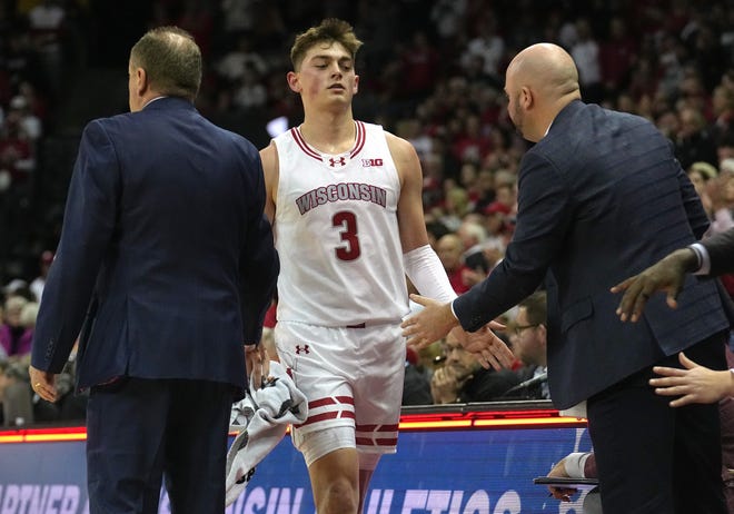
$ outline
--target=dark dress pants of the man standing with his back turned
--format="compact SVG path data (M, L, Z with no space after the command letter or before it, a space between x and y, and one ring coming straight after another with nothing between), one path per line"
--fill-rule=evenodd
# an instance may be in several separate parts
M90 514L155 514L165 476L175 514L221 514L230 384L121 377L87 407Z

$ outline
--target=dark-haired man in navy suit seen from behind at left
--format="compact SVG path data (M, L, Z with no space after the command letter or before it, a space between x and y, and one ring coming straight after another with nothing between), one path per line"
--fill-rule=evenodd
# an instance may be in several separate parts
M231 403L278 273L257 149L199 115L201 55L173 28L132 48L129 113L83 131L41 300L31 383L79 336L90 513L222 513ZM246 346L245 345L250 345ZM258 367L259 366L259 367Z

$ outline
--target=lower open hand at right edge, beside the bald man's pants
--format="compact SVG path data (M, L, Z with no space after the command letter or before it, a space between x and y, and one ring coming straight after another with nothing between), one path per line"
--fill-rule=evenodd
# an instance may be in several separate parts
M734 374L730 370L715 372L700 366L678 354L678 360L684 369L677 367L655 366L653 372L661 378L651 378L649 385L661 396L680 396L671 402L671 407L682 407L688 404L712 404L730 396L734 389Z

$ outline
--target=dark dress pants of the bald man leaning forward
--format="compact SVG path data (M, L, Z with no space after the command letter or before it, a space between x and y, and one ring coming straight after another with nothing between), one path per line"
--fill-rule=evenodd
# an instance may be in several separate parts
M716 335L685 354L726 369L725 340ZM677 355L657 364L680 367ZM718 406L671 407L653 376L644 368L587 401L604 514L726 514Z

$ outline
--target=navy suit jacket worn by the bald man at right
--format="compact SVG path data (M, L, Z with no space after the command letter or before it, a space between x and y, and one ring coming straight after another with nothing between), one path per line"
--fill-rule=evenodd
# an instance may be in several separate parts
M529 149L505 258L454 302L476 330L548 284L548 386L567 408L664 355L728 327L714 280L687 277L669 309L648 302L638 323L615 314L609 288L694 243L708 220L672 146L649 121L573 101Z

